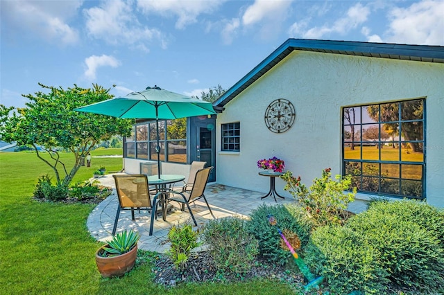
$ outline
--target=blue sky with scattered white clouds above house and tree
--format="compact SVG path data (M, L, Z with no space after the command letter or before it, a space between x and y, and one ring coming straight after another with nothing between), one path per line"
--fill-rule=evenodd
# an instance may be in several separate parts
M114 96L229 89L288 38L444 46L444 0L0 0L0 19L7 107L39 82Z

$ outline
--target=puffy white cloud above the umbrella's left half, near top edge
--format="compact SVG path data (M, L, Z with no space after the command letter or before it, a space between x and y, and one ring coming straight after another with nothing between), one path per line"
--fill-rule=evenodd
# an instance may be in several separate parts
M144 42L162 39L160 30L139 23L131 2L104 1L101 6L85 9L84 12L88 35L109 44L135 45L135 48L146 52L148 48Z

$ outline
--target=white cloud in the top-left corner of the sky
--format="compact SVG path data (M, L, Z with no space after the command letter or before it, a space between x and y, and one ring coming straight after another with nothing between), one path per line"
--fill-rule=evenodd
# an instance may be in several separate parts
M51 42L75 44L79 39L78 31L69 26L69 21L76 16L82 3L80 0L2 1L1 19L6 22L3 28L12 39L25 32Z

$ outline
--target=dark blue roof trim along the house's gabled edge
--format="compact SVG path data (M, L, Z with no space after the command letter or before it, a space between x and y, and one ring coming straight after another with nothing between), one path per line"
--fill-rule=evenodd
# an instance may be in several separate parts
M250 84L253 84L253 82L262 77L262 75L295 50L444 63L444 46L287 39L287 41L273 51L271 55L268 55L265 60L262 60L253 70L246 74L244 78L241 78L241 80L213 102L213 106L223 107L226 105L230 100L250 86Z

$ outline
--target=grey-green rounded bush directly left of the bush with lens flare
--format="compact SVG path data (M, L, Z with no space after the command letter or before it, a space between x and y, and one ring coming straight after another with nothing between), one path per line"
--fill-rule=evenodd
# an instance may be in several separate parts
M210 220L203 231L203 239L210 246L216 267L230 274L250 271L258 253L257 240L248 235L245 220L225 217Z

